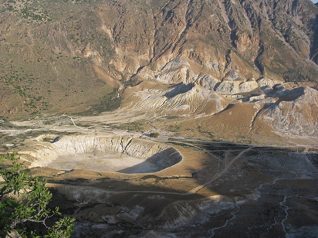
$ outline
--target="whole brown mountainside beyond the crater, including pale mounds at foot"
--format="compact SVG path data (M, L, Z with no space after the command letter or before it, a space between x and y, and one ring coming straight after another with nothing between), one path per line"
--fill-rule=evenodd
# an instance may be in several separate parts
M139 115L207 116L236 103L263 108L273 97L282 107L284 83L286 94L317 88L318 8L310 0L3 1L1 9L1 56L12 59L2 63L4 115L122 105ZM289 119L289 131L310 133L315 102L308 107ZM256 118L281 130L287 112L265 111Z

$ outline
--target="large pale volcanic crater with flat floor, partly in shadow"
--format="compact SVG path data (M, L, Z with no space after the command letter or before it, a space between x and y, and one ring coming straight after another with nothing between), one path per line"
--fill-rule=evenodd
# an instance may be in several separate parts
M28 152L34 158L31 167L133 174L157 172L182 160L171 146L129 136L58 136L53 141Z

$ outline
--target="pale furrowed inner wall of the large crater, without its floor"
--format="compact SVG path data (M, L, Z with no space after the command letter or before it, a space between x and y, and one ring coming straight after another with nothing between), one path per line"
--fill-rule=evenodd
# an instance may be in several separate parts
M97 158L123 154L145 158L147 163L154 164L159 170L182 160L182 155L173 147L129 136L59 136L54 143L45 143L21 153L33 157L32 167L42 167L47 162L54 162L59 156L67 159L83 154L94 155Z

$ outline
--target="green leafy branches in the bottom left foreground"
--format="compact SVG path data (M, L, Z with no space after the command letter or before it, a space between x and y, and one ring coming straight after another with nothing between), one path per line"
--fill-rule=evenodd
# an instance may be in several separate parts
M69 237L75 219L63 217L52 221L53 215L61 213L58 207L55 210L47 208L52 193L45 187L45 178L32 177L22 171L23 163L19 162L17 151L0 156L0 164L3 159L11 161L12 166L9 169L0 168L4 180L0 182L0 237Z

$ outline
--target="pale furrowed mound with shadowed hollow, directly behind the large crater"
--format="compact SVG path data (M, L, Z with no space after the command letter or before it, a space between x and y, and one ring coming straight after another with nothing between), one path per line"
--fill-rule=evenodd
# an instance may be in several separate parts
M154 83L150 85L155 87ZM142 83L126 90L124 96L126 94L128 96L125 101L133 102L127 104L127 110L141 112L152 109L170 115L215 114L225 109L230 102L224 96L195 84L149 89L149 83Z

